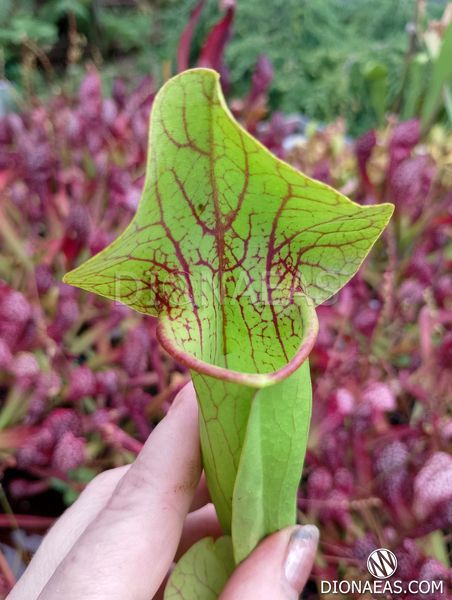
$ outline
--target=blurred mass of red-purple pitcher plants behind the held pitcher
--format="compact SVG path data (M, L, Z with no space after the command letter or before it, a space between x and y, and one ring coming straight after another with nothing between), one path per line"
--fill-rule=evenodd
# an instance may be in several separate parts
M232 10L217 26L222 35ZM356 200L396 203L366 267L319 309L299 496L303 519L322 533L317 574L356 576L357 561L365 566L372 549L388 546L400 577L443 576L425 536L452 525L445 150L418 143L415 121L366 134L356 158L340 124L294 142L293 121L261 121L271 76L259 59L248 96L233 103L238 118L273 152ZM105 98L91 70L78 99L56 97L0 121L0 448L19 512L55 479L79 491L80 466L95 474L126 462L187 377L159 348L152 319L61 283L132 217L154 92L150 79L131 93L117 81Z

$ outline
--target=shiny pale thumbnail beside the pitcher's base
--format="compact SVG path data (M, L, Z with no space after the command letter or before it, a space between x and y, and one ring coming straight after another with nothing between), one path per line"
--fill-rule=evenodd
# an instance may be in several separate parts
M306 583L318 541L319 530L315 525L298 527L290 537L284 574L297 593Z

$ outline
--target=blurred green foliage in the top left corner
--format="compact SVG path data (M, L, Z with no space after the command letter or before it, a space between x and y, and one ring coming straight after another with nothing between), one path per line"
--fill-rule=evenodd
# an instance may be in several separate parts
M121 71L118 63L124 57L139 63L143 51L153 46L159 9L159 2L147 0L114 6L97 0L2 0L2 74L29 93L42 95L55 84L68 83L66 79L77 85L84 60L103 63L110 78L111 72ZM116 64L110 65L110 59ZM157 57L153 62L157 70ZM149 72L149 64L142 67ZM139 68L134 71L139 75Z

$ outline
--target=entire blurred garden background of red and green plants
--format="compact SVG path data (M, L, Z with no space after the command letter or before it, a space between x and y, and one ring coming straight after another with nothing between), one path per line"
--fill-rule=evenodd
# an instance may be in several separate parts
M152 318L61 278L130 221L155 93L196 65L276 155L396 205L319 309L299 518L321 546L304 597L365 578L378 547L397 577L450 583L451 23L445 0L1 0L0 597L187 381ZM411 596L427 597L445 598Z

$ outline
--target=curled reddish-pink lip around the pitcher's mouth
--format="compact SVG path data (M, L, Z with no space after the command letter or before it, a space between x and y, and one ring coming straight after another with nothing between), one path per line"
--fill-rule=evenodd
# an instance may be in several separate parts
M170 334L170 319L167 316L161 317L157 325L157 338L163 348L175 360L183 364L190 370L196 371L202 375L208 375L215 379L234 382L241 385L254 388L264 388L277 383L296 371L308 358L319 330L319 321L313 302L307 299L300 305L301 329L303 335L301 342L294 356L286 362L281 368L272 372L247 373L221 367L211 362L207 362L200 357L187 352L177 343Z

